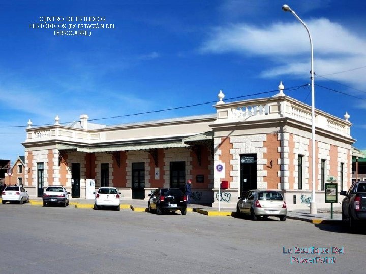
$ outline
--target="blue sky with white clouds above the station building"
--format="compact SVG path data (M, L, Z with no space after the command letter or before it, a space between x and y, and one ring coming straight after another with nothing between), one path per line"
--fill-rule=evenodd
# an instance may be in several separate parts
M364 1L3 0L0 159L24 155L29 119L40 125L54 123L56 115L61 123L81 114L123 116L215 101L220 90L231 98L276 90L280 80L285 87L310 83L307 32L283 4L313 38L316 108L340 118L347 111L354 145L366 149ZM47 23L66 25L84 23L66 22L68 16L105 17L115 28L88 29L91 36L29 28L43 16L64 17ZM310 105L310 92L285 94ZM214 112L206 104L99 123Z

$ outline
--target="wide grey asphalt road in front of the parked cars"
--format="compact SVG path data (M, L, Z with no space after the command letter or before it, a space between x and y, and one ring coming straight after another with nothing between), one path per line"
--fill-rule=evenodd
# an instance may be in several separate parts
M289 219L6 204L0 229L2 274L365 272L365 234Z

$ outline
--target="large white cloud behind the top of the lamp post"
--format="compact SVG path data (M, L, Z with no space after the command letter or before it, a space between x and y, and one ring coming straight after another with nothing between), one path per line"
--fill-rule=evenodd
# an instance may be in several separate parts
M362 67L366 63L366 38L328 19L313 19L307 23L314 45L314 71L318 75ZM210 38L200 48L202 53L238 53L268 57L275 67L262 71L262 77L310 72L310 40L306 29L296 21L273 23L268 27L232 24L212 30ZM342 80L365 88L362 71L335 74ZM308 74L309 75L309 74Z

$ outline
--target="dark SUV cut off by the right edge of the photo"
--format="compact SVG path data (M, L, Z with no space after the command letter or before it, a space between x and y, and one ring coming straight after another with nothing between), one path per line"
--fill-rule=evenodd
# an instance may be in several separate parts
M366 221L366 182L355 182L340 195L346 196L342 201L342 221L354 229L357 222Z

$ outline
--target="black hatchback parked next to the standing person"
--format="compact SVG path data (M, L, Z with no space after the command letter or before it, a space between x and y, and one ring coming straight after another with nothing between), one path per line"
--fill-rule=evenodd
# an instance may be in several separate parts
M155 210L156 214L164 211L181 211L182 215L187 213L187 199L179 188L158 188L149 194L148 210Z

